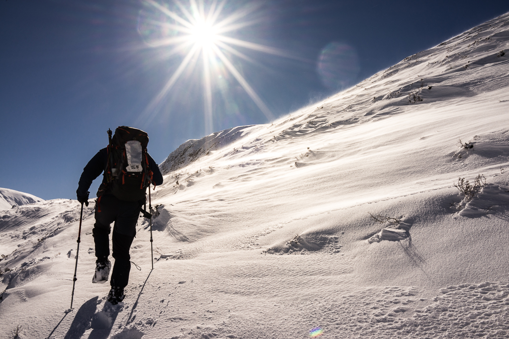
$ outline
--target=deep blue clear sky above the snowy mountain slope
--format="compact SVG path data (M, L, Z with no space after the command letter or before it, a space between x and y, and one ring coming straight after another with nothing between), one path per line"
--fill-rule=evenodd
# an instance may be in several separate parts
M160 163L188 139L264 124L509 11L505 0L226 2L218 21L248 10L235 22L250 24L224 36L267 50L222 49L238 73L215 55L207 97L199 53L161 92L188 54L157 45L176 34L161 8L178 8L151 1L0 1L0 187L75 199L108 128L147 131Z

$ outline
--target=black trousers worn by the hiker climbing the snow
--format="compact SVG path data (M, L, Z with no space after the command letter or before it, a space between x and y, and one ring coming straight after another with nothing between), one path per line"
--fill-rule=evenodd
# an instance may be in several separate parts
M129 250L136 235L136 224L142 204L139 201L123 201L112 195L103 195L96 204L94 235L98 260L109 256L110 224L115 222L111 238L115 264L111 272L111 287L124 288L129 283L131 256Z

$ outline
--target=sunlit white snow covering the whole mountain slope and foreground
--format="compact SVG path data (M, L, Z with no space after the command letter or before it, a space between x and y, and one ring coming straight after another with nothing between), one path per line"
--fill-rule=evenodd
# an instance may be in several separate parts
M93 203L68 313L79 204L3 211L0 338L508 338L506 50L509 14L186 142L152 191L154 270L140 219L116 307L91 283Z

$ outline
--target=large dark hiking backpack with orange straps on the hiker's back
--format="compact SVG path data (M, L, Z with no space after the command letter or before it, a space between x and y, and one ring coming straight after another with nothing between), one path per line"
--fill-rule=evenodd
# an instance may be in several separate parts
M104 170L106 188L124 201L145 200L147 187L152 182L149 167L146 132L132 127L119 126L111 137L108 130L108 162Z

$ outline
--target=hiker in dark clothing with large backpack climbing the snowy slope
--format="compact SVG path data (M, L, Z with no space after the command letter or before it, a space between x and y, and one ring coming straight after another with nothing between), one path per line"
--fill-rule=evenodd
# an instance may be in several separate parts
M129 282L131 256L129 250L136 235L136 225L142 206L146 204L146 191L150 184L163 182L159 167L147 153L147 133L120 126L102 148L83 168L76 195L80 203L88 206L88 190L92 181L103 173L97 192L95 224L92 230L95 243L96 270L92 283L108 280L111 263L109 257L110 224L115 222L112 234L111 290L107 300L117 304L125 298L124 288Z

